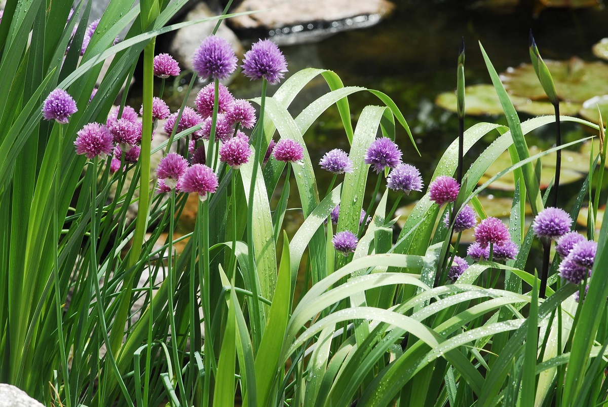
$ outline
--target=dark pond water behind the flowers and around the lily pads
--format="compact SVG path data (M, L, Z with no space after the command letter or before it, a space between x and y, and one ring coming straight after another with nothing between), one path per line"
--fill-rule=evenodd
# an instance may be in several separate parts
M496 70L502 72L510 66L530 61L530 29L533 29L537 46L545 60L567 60L575 55L583 60L597 60L591 47L601 38L608 37L608 12L603 4L585 9L553 8L539 11L536 3L522 1L507 13L496 13L481 7L485 3L396 1L393 15L376 26L341 32L319 43L283 46L282 50L290 72L307 67L330 69L342 78L346 86L365 86L388 94L406 117L421 153L420 156L415 153L406 132L398 128L397 141L404 150L404 161L421 170L426 186L441 154L457 137L456 115L435 105L434 100L441 92L455 89L461 37L465 38L466 44L466 85L491 83L478 41L483 44ZM502 7L500 11L505 12L506 9L508 7ZM249 43L245 41L255 41L257 38L243 40L248 47ZM240 98L260 94L260 83L250 82L242 75L238 75L229 87ZM295 116L326 91L322 78L313 81L291 105L291 113ZM270 89L269 92L272 94L274 90ZM349 97L349 101L353 124L356 124L364 106L379 102L366 92L358 92ZM522 121L530 117L520 114ZM506 123L501 116L467 117L465 128L480 121ZM570 141L580 137L583 131L575 125L564 124L562 134L566 141ZM497 133L489 134L472 148L465 158L465 169L496 136ZM348 151L347 137L335 108L323 114L304 138L313 163L319 162L331 148ZM551 147L553 139L553 127L547 127L535 131L528 144L547 148ZM331 177L323 175L322 171L318 174L319 190L325 191ZM375 178L370 181L372 189L373 181ZM292 185L291 195L297 200L295 190L295 185ZM579 184L576 183L565 187L562 204L567 205L578 190ZM492 194L510 195L502 192ZM365 207L369 195L371 191L365 197ZM411 203L419 198L416 195L412 193L402 202ZM297 206L297 201L290 203L290 206ZM291 228L297 228L299 222L295 212L286 215L287 228L290 228L290 223Z

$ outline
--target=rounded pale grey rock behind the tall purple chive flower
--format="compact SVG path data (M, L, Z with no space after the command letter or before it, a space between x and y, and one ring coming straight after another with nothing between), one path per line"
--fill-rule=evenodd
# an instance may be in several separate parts
M188 12L184 17L184 21L194 21L215 15L216 13L213 13L207 4L201 2ZM175 37L173 37L173 41L171 41L170 52L182 68L192 69L192 55L201 44L201 41L213 32L215 24L216 21L209 21L178 30ZM243 46L241 46L235 33L226 26L226 23L223 22L219 26L217 35L218 37L225 38L230 43L230 46L232 46L238 57L243 55Z

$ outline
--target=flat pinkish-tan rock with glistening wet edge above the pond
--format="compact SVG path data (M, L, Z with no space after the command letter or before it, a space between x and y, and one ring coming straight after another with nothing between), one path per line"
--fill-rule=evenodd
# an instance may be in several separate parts
M235 13L264 11L231 18L229 24L238 30L265 30L278 44L305 43L373 26L393 9L388 0L244 0Z

